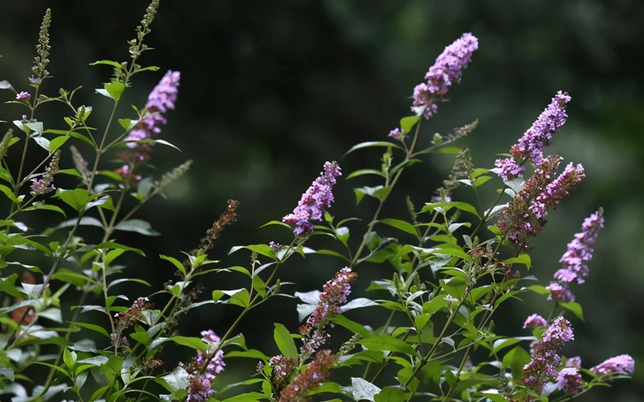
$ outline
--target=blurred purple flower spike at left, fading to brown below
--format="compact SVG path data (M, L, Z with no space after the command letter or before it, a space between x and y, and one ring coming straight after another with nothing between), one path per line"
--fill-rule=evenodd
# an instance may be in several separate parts
M180 78L181 75L178 71L168 70L147 96L144 115L124 139L129 150L118 154L126 162L126 165L118 169L121 176L135 178L133 170L149 160L149 152L153 143L138 143L138 141L152 138L161 132L161 126L167 122L164 113L175 109Z

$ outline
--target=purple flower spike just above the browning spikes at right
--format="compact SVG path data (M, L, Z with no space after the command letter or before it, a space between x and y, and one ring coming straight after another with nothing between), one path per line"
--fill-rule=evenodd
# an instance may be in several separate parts
M532 127L520 138L510 153L516 160L531 160L539 166L544 161L543 148L550 145L554 132L564 125L568 115L565 105L570 102L568 93L559 91L554 95L553 102L539 115Z

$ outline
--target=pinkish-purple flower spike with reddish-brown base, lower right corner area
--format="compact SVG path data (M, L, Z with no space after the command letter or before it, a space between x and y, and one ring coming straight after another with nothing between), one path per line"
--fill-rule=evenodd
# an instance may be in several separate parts
M570 322L558 316L544 332L541 340L533 346L532 360L523 368L521 382L527 388L541 394L544 385L558 374L561 363L557 349L564 343L574 340L573 328ZM534 399L529 399L530 401Z

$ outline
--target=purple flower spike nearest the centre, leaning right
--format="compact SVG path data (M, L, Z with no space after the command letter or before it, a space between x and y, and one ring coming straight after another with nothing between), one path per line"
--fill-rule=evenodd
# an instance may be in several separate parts
M313 224L310 221L322 220L325 210L334 200L331 190L336 184L336 178L341 175L342 170L336 162L324 164L324 171L302 194L293 213L282 218L283 222L293 227L293 233L299 236L313 231Z

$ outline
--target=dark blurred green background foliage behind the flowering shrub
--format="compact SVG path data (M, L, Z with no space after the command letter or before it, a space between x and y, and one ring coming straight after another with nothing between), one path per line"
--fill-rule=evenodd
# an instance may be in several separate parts
M126 41L147 6L146 0L126 1L3 1L0 3L0 78L18 91L28 91L26 78L44 10L52 8L52 53L44 93L55 96L59 87L83 85L75 102L92 105L90 123L104 125L109 100L95 95L111 71L90 67L95 60L129 60ZM137 246L153 257L124 258L130 275L161 286L173 279L171 266L155 258L164 253L180 257L180 250L196 246L205 229L225 209L230 197L241 201L238 223L227 229L212 259L222 266L247 264L231 246L269 242L288 243L290 233L259 226L279 219L296 205L301 192L327 160L338 160L345 175L355 169L379 167L377 151L356 152L341 158L358 142L384 140L402 116L410 114L413 86L428 67L463 32L472 32L480 48L461 84L450 91L451 102L424 122L424 141L434 132L448 134L473 120L478 128L462 144L469 147L477 167L493 167L495 154L509 147L549 104L556 91L573 98L569 120L547 149L565 163L582 163L587 177L574 194L552 212L551 221L533 241L531 273L547 284L558 269L558 259L583 218L598 206L605 208L606 224L595 246L591 277L574 293L585 310L585 322L569 314L576 340L564 350L579 354L584 367L628 353L636 360L634 381L618 381L585 401L639 401L644 394L644 264L641 226L644 222L641 172L644 168L644 3L636 0L598 1L162 1L144 54L144 66L160 66L156 73L135 77L124 104L142 107L147 93L167 69L181 71L176 111L160 138L182 150L157 146L151 163L162 172L193 159L191 171L168 188L138 217L162 233L143 237L118 233L118 241ZM10 93L0 93L10 100ZM1 116L14 120L24 113L16 105L0 105ZM65 127L62 105L45 104L36 118L45 128ZM135 118L127 106L120 118ZM2 123L6 131L8 123ZM37 149L32 149L38 152ZM40 150L42 151L42 150ZM92 159L89 149L81 149ZM16 152L14 152L16 153ZM11 155L17 158L19 155ZM34 158L39 155L35 155ZM64 163L71 155L64 152ZM430 201L446 177L453 159L433 155L408 169L388 201L385 216L406 219L404 197L417 208ZM115 169L112 163L106 168ZM357 208L352 187L375 185L369 179L341 180L330 212L338 219L358 216L368 222L373 200ZM500 185L498 181L497 185ZM495 197L488 185L488 198ZM471 194L459 190L458 197ZM52 213L28 222L40 230L52 226ZM359 240L365 221L351 227ZM98 233L81 232L88 239ZM399 235L399 233L395 233ZM401 241L404 239L401 239ZM409 239L407 239L409 240ZM332 247L314 238L313 248ZM15 254L18 256L18 254ZM24 254L28 259L28 255ZM296 282L287 293L320 289L342 268L333 257L308 256L291 261L283 280ZM391 267L360 266L359 289L370 280L392 275ZM219 274L204 282L204 299L214 286L240 288L241 276ZM226 276L227 275L227 276ZM244 284L245 285L245 284ZM123 289L131 297L146 288ZM384 295L373 295L374 298ZM503 311L497 329L524 335L524 318L540 299L513 302ZM70 306L74 300L66 301ZM240 327L249 345L276 351L269 320L279 317L292 332L298 326L296 300L278 298L261 306ZM548 307L536 311L547 315ZM184 320L184 334L213 328L220 333L235 318L235 306L202 307ZM276 316L274 313L281 313ZM372 310L373 312L374 310ZM365 317L382 325L379 317ZM256 330L265 327L266 331ZM338 335L337 348L348 334ZM476 363L476 362L475 362ZM251 372L244 370L243 374ZM234 370L227 376L235 377Z

